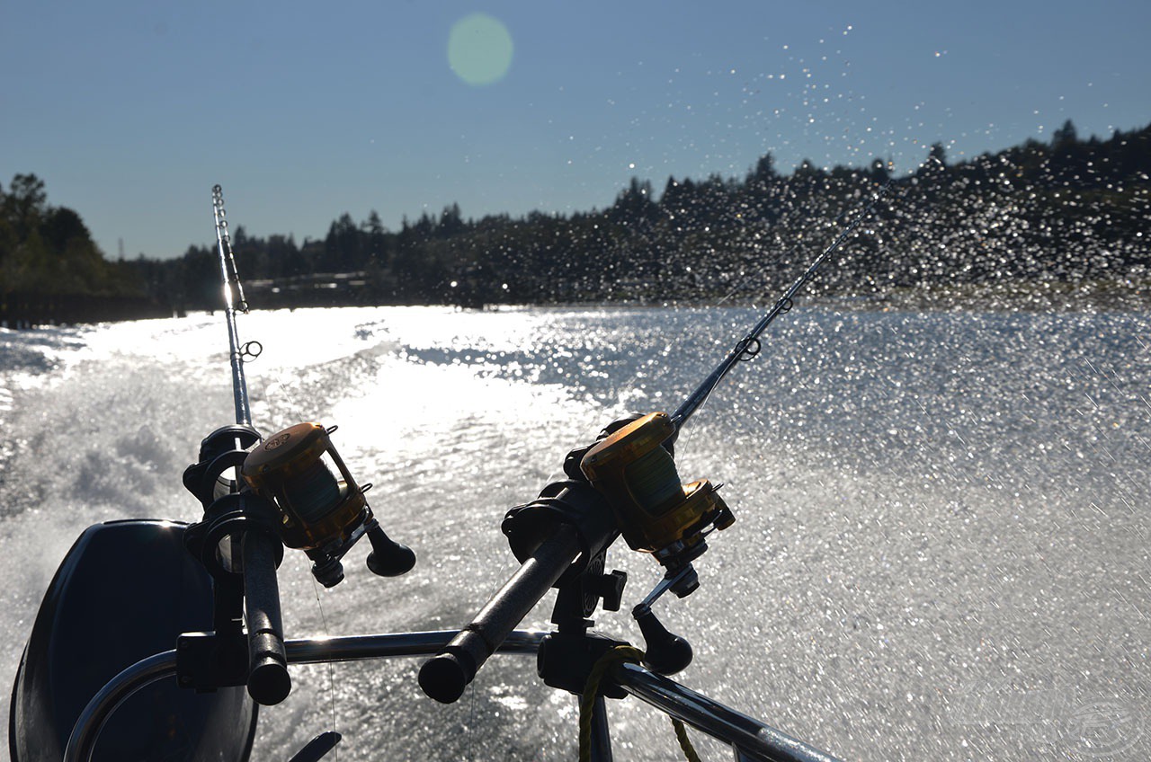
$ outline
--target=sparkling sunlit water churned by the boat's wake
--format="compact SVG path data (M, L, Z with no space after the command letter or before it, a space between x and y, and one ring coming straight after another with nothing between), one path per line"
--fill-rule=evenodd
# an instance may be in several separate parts
M628 411L673 410L756 320L748 308L428 307L242 317L253 422L334 443L416 570L281 567L289 637L451 628L514 571L504 511ZM802 305L677 445L737 523L661 619L677 679L845 759L1143 760L1151 754L1151 330L1130 312L841 311ZM195 520L181 486L234 419L220 315L0 332L0 678L76 535ZM618 543L628 615L658 579ZM525 622L547 626L550 596ZM124 624L123 626L130 626ZM456 704L418 660L292 669L254 760L335 727L341 760L570 760L574 701L494 657ZM7 711L7 691L3 709ZM616 756L670 760L670 724L610 702ZM5 725L5 733L7 725ZM727 752L698 738L704 759Z

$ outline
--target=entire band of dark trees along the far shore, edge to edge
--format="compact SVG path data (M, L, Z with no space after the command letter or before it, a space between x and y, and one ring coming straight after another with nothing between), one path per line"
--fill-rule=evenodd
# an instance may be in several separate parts
M1151 306L1151 125L948 163L943 144L899 177L887 162L791 175L770 154L744 177L632 178L604 209L439 216L386 228L343 214L322 239L233 233L257 308L451 304L765 305L868 200L885 197L800 297L845 308L1146 310ZM212 310L214 245L108 261L43 181L0 186L0 326Z

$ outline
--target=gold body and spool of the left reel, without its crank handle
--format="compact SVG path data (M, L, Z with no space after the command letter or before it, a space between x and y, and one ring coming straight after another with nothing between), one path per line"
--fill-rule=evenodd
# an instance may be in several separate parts
M289 548L312 550L346 541L368 518L364 489L331 445L334 430L315 422L296 424L269 436L244 459L244 481L280 509L280 535Z

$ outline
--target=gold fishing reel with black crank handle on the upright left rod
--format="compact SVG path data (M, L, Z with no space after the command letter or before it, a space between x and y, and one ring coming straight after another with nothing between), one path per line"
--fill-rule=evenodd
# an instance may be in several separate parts
M416 554L392 541L372 515L364 494L331 444L336 427L305 422L273 434L244 458L241 475L279 513L280 539L312 559L312 573L325 587L344 578L341 559L367 535L367 567L397 577L416 564ZM338 477L337 477L338 474Z

